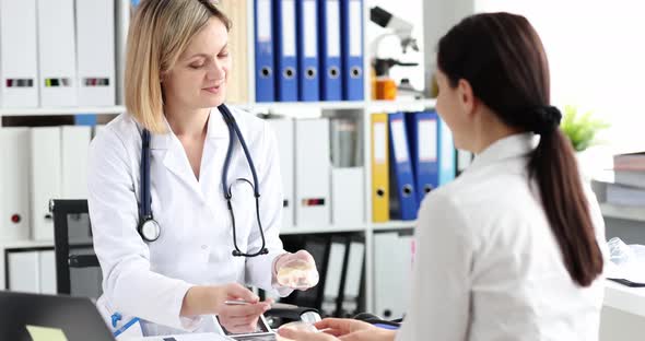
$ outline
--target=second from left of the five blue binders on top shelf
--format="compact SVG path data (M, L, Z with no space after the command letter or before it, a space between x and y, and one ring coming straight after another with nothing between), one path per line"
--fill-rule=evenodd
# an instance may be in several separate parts
M275 98L297 101L297 37L295 0L273 1L275 44Z

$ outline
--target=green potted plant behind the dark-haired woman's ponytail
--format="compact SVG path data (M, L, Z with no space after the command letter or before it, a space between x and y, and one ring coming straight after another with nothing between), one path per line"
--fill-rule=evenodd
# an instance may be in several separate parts
M576 152L578 168L585 180L590 180L605 168L602 155L587 150L600 142L598 133L609 127L609 122L594 117L590 110L579 114L577 107L564 106L560 129Z

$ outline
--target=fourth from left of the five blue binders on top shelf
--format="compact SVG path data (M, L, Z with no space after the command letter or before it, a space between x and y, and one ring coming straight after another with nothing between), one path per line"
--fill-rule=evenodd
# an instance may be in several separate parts
M318 0L320 99L342 101L340 0Z

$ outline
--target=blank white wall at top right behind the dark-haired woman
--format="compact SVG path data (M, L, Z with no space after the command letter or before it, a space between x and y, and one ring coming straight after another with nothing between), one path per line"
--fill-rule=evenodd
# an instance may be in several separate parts
M476 10L525 15L547 50L552 102L609 120L611 152L645 150L644 2L476 0Z

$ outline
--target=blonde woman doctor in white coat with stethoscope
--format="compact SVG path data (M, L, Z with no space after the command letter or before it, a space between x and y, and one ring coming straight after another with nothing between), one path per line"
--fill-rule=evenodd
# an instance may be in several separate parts
M128 113L91 146L98 305L108 320L139 317L144 334L214 331L215 314L232 332L254 330L270 303L237 283L284 296L293 289L277 283L283 264L316 271L308 252L282 249L273 132L222 104L228 27L208 0L141 1L128 35Z

